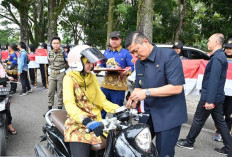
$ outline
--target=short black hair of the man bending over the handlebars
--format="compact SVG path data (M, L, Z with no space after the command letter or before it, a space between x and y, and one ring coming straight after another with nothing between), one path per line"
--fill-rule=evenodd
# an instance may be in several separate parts
M135 31L135 32L131 32L125 40L125 47L129 47L132 43L136 43L136 44L142 44L143 43L143 39L147 39L148 38L141 32ZM149 41L149 40L148 40ZM150 42L149 42L150 43Z

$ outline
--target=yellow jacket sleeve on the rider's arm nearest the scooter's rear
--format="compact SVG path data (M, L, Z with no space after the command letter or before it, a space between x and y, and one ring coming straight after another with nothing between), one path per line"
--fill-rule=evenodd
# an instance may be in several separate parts
M77 123L82 123L83 119L85 119L87 115L76 105L74 96L74 82L72 78L67 75L63 80L63 101L69 116Z

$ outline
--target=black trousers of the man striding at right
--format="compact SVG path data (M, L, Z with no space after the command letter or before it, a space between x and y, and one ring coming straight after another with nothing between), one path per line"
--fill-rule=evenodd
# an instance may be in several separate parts
M187 142L189 144L194 144L195 139L201 132L201 129L204 126L206 120L208 119L209 115L211 115L216 127L222 135L224 145L230 149L232 147L232 138L223 117L222 104L215 104L215 108L211 110L206 110L203 105L205 105L205 101L200 100L194 115L191 129L186 137Z

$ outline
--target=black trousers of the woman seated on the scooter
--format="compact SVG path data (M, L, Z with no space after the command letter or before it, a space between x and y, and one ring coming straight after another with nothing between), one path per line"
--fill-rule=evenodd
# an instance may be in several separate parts
M69 143L72 157L89 157L91 145L88 143L70 142Z

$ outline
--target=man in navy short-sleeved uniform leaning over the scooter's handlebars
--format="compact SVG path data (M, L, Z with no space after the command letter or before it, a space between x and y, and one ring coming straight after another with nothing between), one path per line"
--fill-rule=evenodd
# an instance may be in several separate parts
M126 106L135 108L138 101L144 100L149 117L139 122L147 123L152 138L156 136L159 157L173 157L181 124L187 121L181 60L173 49L153 46L139 32L129 34L125 46L138 58L135 89Z

